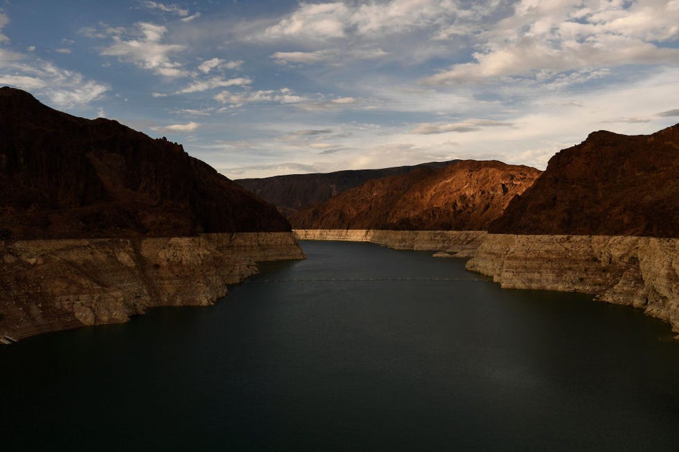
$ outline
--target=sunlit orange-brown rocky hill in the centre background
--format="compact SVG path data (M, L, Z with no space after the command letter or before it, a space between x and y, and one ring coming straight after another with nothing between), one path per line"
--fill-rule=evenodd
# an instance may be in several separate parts
M290 215L296 229L484 230L540 174L499 161L375 179Z

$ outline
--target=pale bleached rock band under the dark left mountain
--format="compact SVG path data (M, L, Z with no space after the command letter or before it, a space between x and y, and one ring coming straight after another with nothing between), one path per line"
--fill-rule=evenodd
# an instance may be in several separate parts
M302 259L292 233L0 242L0 340L211 305L255 262Z

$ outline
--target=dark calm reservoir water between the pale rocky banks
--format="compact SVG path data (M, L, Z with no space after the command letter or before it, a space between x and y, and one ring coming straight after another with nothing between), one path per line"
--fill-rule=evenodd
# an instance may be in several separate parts
M679 450L664 323L431 253L303 248L213 307L0 347L0 450Z

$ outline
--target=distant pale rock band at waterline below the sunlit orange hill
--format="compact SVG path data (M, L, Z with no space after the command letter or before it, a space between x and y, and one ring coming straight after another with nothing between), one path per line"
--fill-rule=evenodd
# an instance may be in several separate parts
M294 235L299 240L371 242L400 250L442 251L469 257L487 234L483 230L295 229Z

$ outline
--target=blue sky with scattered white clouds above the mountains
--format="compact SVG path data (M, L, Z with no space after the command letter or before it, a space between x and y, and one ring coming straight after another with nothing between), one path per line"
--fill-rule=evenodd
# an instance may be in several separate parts
M679 123L679 0L0 0L0 85L231 179L544 169Z

